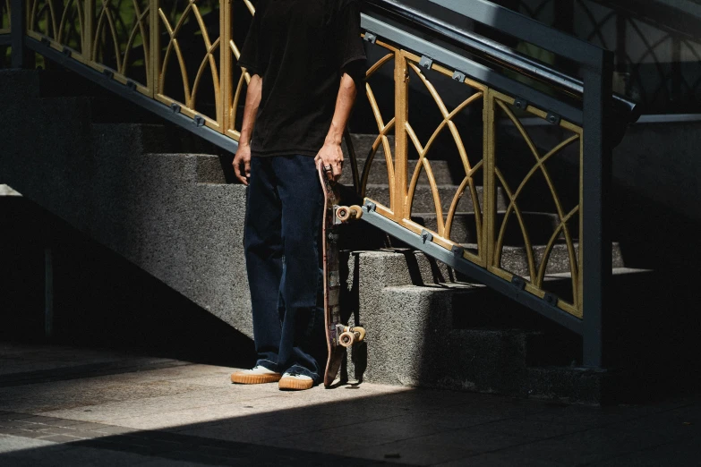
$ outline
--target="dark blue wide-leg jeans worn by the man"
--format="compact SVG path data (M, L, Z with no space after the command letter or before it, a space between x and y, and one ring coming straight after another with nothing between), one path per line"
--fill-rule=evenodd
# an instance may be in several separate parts
M315 383L327 352L323 208L313 157L252 157L244 247L258 364Z

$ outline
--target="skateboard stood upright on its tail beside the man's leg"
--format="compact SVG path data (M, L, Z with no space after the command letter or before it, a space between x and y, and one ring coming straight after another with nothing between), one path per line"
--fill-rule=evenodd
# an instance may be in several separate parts
M329 357L324 371L324 386L333 383L346 355L346 348L365 338L365 329L348 326L341 319L339 301L341 281L338 271L338 233L342 223L359 219L363 210L359 206L338 206L338 183L329 180L323 167L319 168L321 190L324 192L324 219L321 230L324 262L324 324Z

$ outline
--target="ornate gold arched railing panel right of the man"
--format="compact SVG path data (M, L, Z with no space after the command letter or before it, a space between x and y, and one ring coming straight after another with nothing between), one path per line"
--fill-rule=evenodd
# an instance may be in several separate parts
M441 98L440 92L433 86L428 73L432 73L436 78L439 76L455 78L455 70L449 70L439 64L430 64L427 69L420 65L422 60L420 56L390 46L380 40L375 42L374 47L381 49L381 52L373 55L381 55L382 58L369 67L366 92L372 114L377 122L378 133L370 153L358 155L365 157L368 161L363 167L360 192L364 194L366 191L372 164L380 163L374 161L375 153L378 149L383 149L385 159L382 162L386 165L388 174L389 200L384 200L384 202L370 200L375 205L376 212L415 234L429 232L432 234L432 242L447 250L453 250L455 247L462 248L465 259L475 265L485 267L507 281L511 281L515 273L502 267L501 264L502 254L508 248L505 244L505 234L509 223L517 223L523 237L522 251L526 256L528 271L525 276L525 289L526 292L533 293L540 298L549 293L545 283L553 247L557 243L565 245L568 256L570 290L568 293L560 291L560 294L568 296L568 300L560 298L556 304L561 310L581 318L582 296L579 273L581 268L580 255L584 254L584 251L578 248L577 244L577 239L580 236L578 225L581 225L579 222L581 215L578 208L579 203L577 202L575 206L565 205L560 199L559 191L546 166L551 159L565 153L566 149L575 149L577 164L573 169L581 173L583 164L581 127L560 119L558 126L565 138L550 150L542 153L542 150L536 147L529 136L521 119L524 116L529 116L546 121L547 113L543 110L534 106L517 110L514 107L514 97L468 78L462 78L460 81L453 79L454 87L457 86L461 89L450 90L453 91L453 96L457 93L462 97L457 106L449 108ZM394 66L396 113L395 115L382 115L378 99L373 91L372 77L381 67L389 66L389 64ZM440 123L435 129L423 128L423 133L430 135L427 140L421 140L417 136L415 126L412 125L413 114L409 112L408 102L411 95L417 91L410 90L409 81L421 83L431 96L436 110L440 113ZM419 111L417 117L422 117L428 111L426 108L416 110ZM465 129L458 128L454 122L458 115L464 114L468 110L472 110L482 117L483 149L480 152L471 152L466 149ZM517 114L520 115L520 118ZM503 132L508 128L504 128L506 126L504 124L498 126L497 121L511 123L516 132L509 132L507 137L513 139L514 133L516 133L517 137L523 140L524 151L517 154L500 153L498 150L500 131ZM390 132L395 135L394 146L389 144ZM449 156L459 159L458 166L461 166L463 171L457 184L457 190L452 192L446 192L445 187L438 185L432 170L432 154L434 152L432 149L443 132L448 133L454 142L454 152ZM502 138L504 137L502 136ZM413 152L418 158L409 159L410 152ZM523 157L524 155L531 157L531 167L526 170L525 174L520 175L521 178L517 184L509 182L514 178L509 176L509 163L513 163L514 157ZM446 158L445 154L440 156L443 159ZM571 150L568 156L571 158ZM413 162L411 170L408 166L410 160ZM385 167L382 168L385 169ZM519 198L528 190L529 183L534 184L534 180L538 177L542 177L542 182L547 187L557 222L553 226L547 244L543 245L540 250L535 250L524 211L519 205ZM431 187L430 196L432 196L434 207L433 214L436 217L435 229L428 229L415 221L417 213L413 205L416 189L422 178L425 180L424 185ZM581 181L581 174L573 174L573 179L577 182ZM581 193L581 183L577 183L575 189L578 194ZM498 191L506 198L506 208L499 209ZM463 206L465 208L461 208ZM466 212L474 217L476 227L476 242L472 244L462 243L462 239L451 234L456 215Z

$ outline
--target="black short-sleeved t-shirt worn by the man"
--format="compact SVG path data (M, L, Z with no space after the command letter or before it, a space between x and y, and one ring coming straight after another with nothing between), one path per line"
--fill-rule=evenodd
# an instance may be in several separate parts
M356 0L259 0L238 61L263 78L252 156L316 156L341 72L364 58Z

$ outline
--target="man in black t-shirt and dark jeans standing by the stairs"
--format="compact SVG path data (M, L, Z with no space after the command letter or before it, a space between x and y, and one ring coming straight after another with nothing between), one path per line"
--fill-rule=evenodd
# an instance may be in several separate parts
M234 383L309 389L326 359L317 169L338 179L365 55L356 0L260 0L239 59L251 73L234 158L258 361Z

